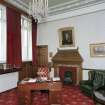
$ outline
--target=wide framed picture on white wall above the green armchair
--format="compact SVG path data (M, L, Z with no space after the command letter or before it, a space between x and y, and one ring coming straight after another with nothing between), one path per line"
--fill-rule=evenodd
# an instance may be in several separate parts
M105 57L105 43L90 44L91 57Z

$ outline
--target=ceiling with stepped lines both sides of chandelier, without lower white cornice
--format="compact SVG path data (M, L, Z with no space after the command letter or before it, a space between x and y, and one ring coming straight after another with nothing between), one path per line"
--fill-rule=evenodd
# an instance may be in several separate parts
M27 12L30 0L5 0ZM105 2L105 0L49 0L49 16L62 14Z

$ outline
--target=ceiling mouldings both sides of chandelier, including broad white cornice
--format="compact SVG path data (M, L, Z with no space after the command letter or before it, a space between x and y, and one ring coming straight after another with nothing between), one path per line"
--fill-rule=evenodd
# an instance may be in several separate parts
M28 4L22 0L5 1L15 5L25 12L28 10ZM69 2L49 7L48 18L47 20L41 21L41 23L96 12L99 10L105 10L105 0L70 0Z

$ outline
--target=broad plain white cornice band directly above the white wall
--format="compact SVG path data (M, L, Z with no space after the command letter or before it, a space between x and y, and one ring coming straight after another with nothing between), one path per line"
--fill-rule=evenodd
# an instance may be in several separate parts
M105 10L105 3L101 3L101 4L94 5L94 6L89 6L89 7L85 7L85 8L49 16L47 18L47 22L55 21L55 20L59 20L59 19L70 18L70 17L75 17L75 16L80 16L80 15L89 14L89 13L94 13L94 12L98 12L98 11L104 11L104 10ZM46 21L43 21L43 22L46 22ZM43 23L43 22L41 22L41 23Z

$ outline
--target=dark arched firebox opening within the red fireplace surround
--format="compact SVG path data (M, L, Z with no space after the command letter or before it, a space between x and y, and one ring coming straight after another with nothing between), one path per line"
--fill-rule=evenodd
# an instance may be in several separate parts
M63 80L63 83L64 84L71 84L73 82L72 80L72 72L71 71L65 71L64 73L64 80Z

